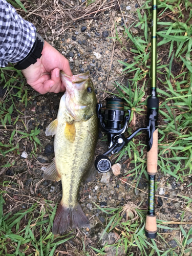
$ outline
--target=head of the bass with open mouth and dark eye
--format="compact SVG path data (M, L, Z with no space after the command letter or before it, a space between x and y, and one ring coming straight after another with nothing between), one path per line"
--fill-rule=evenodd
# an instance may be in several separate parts
M61 71L60 77L66 87L65 104L69 114L76 121L87 121L94 115L97 104L89 71L71 77Z

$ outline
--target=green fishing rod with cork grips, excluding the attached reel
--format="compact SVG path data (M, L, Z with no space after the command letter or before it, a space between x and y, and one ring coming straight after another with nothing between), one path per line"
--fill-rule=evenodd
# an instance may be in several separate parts
M148 174L148 211L145 234L147 238L156 238L157 223L155 216L155 177L158 155L158 109L157 97L157 0L152 0L151 34L151 89L147 100L147 119L150 130L147 133L147 174Z

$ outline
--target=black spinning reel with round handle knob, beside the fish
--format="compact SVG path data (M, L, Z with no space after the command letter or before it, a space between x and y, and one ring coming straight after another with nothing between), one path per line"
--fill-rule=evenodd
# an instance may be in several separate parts
M128 110L128 115L124 117L124 100L114 97L106 99L106 107L102 108L102 104L97 104L97 116L102 128L102 131L108 135L108 148L104 154L96 157L95 167L100 173L107 173L111 169L111 160L107 155L110 153L118 153L126 146L140 131L148 130L149 127L138 128L128 138L124 137L124 132L128 128L131 111ZM123 127L121 123L124 122Z

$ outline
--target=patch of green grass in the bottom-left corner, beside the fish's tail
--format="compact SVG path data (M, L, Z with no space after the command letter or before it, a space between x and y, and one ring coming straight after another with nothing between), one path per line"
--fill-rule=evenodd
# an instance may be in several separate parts
M57 205L53 207L45 200L15 214L3 213L3 193L6 191L0 194L0 255L53 256L58 245L74 238L69 233L58 240L52 234Z

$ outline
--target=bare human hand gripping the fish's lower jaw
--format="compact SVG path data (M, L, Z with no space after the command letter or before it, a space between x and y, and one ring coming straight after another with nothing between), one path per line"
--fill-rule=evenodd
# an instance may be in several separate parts
M41 94L65 92L59 72L62 70L69 76L73 75L69 61L46 41L41 54L36 63L22 70L27 83Z

